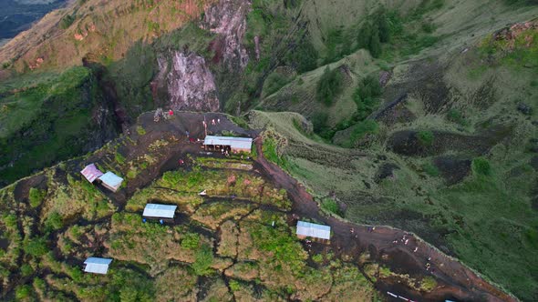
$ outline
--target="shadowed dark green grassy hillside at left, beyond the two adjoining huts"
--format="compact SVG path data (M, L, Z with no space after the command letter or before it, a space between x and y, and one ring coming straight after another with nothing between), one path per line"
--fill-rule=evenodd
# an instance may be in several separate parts
M116 134L112 116L85 67L0 83L0 184L102 146Z

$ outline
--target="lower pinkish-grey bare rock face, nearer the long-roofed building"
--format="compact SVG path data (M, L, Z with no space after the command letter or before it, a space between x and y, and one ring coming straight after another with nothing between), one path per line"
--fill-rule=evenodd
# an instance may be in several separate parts
M200 55L174 52L160 57L160 73L154 82L159 98L173 110L218 111L219 98L212 73Z

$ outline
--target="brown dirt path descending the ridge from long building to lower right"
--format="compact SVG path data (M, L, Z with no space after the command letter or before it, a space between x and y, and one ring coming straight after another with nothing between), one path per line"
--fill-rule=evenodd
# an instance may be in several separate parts
M375 286L382 293L390 291L413 300L516 301L514 297L484 281L468 267L403 230L376 227L372 231L367 226L347 223L332 216L322 216L316 201L306 192L305 187L280 167L265 159L262 140L257 139L255 145L258 151L256 167L272 179L276 186L285 188L294 201L292 212L298 216L316 219L332 228L334 235L331 238L331 246L337 253L358 258L362 252L367 251L372 259L390 267L393 272L409 274L410 277L429 275L438 282L438 287L433 291L424 293L403 286L396 280L391 282L390 277L382 281L378 279ZM402 240L404 236L409 239L407 245L405 240ZM398 243L394 243L395 240ZM427 263L431 265L429 270L426 269ZM387 297L389 300L402 300L388 295Z

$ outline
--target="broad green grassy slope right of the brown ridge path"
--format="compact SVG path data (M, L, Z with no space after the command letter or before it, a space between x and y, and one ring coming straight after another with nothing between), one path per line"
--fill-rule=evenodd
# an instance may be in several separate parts
M535 26L410 60L388 70L385 87L368 90L365 77L355 97L367 106L360 94L379 91L378 105L336 132L333 142L347 148L329 145L316 124L312 131L291 113L256 111L251 123L274 128L281 137L274 161L327 210L412 230L531 301L538 290Z

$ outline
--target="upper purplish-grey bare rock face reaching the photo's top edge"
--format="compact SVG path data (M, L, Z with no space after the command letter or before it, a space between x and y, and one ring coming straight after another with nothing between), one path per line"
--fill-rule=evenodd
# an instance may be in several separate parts
M241 42L250 8L248 0L220 0L218 4L205 9L202 27L219 35L211 45L215 52L214 62L223 60L235 70L243 70L248 64L249 57Z

